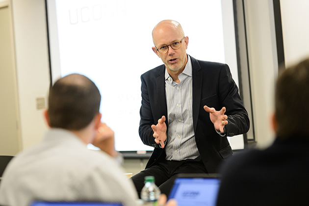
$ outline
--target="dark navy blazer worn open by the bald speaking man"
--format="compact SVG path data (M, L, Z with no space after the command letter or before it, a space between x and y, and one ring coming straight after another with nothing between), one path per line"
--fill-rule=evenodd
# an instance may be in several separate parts
M191 56L190 56L191 57ZM195 141L208 173L216 173L221 161L232 155L226 136L246 133L249 130L248 113L232 79L227 64L200 61L191 57L192 63L192 110ZM160 148L153 137L151 125L156 125L164 115L168 129L165 96L165 65L160 65L141 76L142 105L140 108L139 135L145 145L154 148L146 168L166 157L165 148ZM228 125L226 136L220 136L204 110L204 105L220 110L226 107ZM169 139L169 137L167 137ZM168 141L167 141L168 144Z

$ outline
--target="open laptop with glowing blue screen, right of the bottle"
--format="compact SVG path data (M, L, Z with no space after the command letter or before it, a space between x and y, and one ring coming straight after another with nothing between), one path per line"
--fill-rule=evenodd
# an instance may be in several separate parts
M168 199L178 206L216 206L220 179L211 174L179 174Z

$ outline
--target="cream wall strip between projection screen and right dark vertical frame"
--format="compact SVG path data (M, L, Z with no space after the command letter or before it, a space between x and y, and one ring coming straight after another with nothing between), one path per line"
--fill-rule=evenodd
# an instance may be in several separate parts
M269 122L278 71L273 4L272 0L245 0L244 9L255 138L262 148L274 137Z

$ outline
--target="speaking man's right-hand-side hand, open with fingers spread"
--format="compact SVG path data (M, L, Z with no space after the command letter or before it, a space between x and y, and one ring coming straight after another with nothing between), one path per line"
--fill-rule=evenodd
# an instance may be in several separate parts
M204 106L206 112L209 112L209 117L211 122L213 123L215 129L220 130L221 133L224 132L224 126L229 122L227 121L228 116L225 115L226 108L222 107L220 111L216 111L213 107Z

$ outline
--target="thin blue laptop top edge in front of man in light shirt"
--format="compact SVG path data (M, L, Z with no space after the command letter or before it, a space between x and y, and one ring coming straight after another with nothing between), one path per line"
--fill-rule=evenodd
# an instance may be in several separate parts
M45 202L35 201L30 206L123 206L121 203L99 202Z

